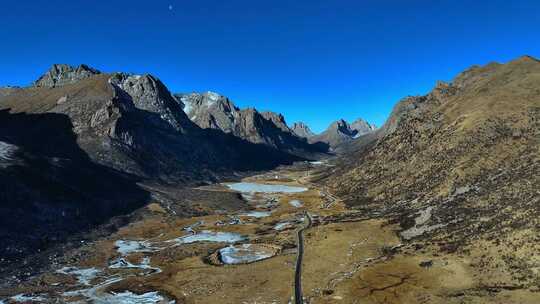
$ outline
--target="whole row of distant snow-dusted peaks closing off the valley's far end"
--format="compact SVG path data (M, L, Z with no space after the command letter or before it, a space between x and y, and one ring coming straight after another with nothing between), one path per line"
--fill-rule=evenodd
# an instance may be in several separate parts
M305 155L306 151L328 152L376 130L375 125L361 118L351 124L340 119L321 134L315 134L303 122L289 127L282 114L240 109L229 98L214 92L175 94L175 97L201 128L218 129L297 155Z

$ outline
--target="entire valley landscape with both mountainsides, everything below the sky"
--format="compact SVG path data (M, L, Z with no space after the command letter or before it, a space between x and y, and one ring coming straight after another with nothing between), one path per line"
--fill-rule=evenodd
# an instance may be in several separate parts
M539 303L538 59L336 119L87 65L0 88L0 303Z

